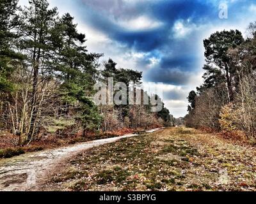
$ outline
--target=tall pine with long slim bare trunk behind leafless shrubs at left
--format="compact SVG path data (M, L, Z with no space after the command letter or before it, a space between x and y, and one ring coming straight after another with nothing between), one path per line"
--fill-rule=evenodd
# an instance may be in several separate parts
M22 24L20 33L20 49L26 53L26 63L33 73L33 87L31 99L31 126L29 128L28 140L36 133L36 124L40 104L38 102L38 84L40 77L52 72L52 59L56 47L52 45L51 31L54 28L57 17L57 8L49 9L47 0L31 0L29 7L22 11Z

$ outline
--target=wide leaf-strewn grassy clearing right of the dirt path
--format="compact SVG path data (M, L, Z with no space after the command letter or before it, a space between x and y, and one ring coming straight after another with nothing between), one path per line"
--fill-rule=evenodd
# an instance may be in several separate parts
M73 157L44 191L256 191L255 147L195 129L124 138Z

